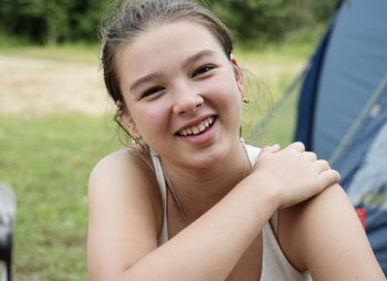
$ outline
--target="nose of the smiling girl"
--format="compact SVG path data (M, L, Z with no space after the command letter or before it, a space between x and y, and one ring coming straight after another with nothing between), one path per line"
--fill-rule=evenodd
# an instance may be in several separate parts
M174 114L195 113L205 103L200 92L195 89L179 87L174 95Z

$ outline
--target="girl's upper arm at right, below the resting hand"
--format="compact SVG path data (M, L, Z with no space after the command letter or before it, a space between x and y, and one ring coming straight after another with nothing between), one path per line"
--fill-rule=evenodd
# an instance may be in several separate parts
M280 242L301 270L320 280L386 280L360 221L334 185L280 215Z

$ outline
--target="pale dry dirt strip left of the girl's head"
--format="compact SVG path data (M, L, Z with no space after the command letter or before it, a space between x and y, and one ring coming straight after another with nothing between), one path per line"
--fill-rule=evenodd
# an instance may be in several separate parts
M95 63L59 62L0 55L0 113L39 117L113 110Z

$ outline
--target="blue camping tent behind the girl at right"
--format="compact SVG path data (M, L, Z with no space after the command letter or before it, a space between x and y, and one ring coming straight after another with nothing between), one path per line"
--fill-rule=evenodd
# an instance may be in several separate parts
M342 1L302 82L295 139L328 159L387 274L387 1Z

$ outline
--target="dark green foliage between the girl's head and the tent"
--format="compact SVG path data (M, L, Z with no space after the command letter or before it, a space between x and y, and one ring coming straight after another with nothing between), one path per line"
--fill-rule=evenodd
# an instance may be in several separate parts
M312 33L333 13L335 0L210 0L213 12L233 31L238 41L255 45L283 42L289 33Z

